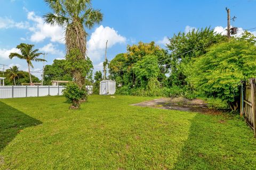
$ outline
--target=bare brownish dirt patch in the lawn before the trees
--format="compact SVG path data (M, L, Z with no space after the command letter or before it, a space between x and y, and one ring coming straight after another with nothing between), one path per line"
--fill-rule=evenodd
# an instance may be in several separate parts
M201 99L186 99L183 97L159 98L142 103L132 104L133 106L155 107L177 111L199 112L204 114L221 114L220 111L208 108L208 104Z

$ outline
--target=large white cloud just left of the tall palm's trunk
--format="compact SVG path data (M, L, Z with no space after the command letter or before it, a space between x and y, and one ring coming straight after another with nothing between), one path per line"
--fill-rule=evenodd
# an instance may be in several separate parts
M52 42L58 42L61 44L65 43L65 30L59 26L51 26L46 24L42 17L37 16L35 12L28 12L28 20L35 22L33 27L30 27L29 30L33 32L30 40L33 42L41 42L46 38L50 38Z

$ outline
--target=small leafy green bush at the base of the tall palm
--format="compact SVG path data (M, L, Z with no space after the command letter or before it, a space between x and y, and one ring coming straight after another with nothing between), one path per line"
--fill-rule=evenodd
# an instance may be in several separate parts
M65 89L62 90L63 96L67 98L68 103L71 103L70 108L78 108L79 101L81 99L87 98L87 92L85 88L79 88L79 86L74 82L69 82Z

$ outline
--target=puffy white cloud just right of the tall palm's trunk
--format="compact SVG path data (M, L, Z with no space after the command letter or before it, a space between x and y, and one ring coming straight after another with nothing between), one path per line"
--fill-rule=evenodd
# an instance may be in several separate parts
M106 41L108 40L108 48L115 44L125 43L126 38L118 35L114 28L103 27L100 25L91 35L87 43L88 56L92 61L99 61L105 53Z

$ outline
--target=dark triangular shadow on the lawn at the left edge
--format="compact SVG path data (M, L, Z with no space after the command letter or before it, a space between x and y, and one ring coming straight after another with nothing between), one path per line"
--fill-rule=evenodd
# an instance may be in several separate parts
M38 124L42 122L0 101L0 151L23 129Z

